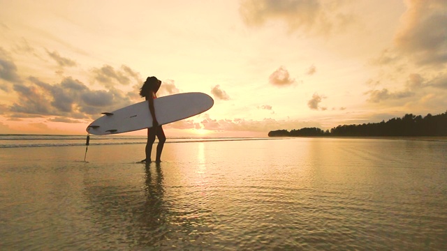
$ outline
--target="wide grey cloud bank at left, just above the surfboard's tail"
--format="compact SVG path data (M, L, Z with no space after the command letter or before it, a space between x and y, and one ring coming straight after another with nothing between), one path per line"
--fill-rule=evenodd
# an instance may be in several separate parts
M131 104L127 93L117 89L91 90L71 77L66 77L59 84L47 84L30 77L27 84L15 84L14 91L20 99L10 106L9 117L92 119L101 112Z

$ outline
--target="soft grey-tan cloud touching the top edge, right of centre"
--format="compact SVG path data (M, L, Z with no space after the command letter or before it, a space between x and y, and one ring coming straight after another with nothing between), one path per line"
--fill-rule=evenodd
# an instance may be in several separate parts
M244 0L240 15L247 26L263 26L270 20L287 24L289 31L326 35L353 21L353 15L340 11L343 1Z

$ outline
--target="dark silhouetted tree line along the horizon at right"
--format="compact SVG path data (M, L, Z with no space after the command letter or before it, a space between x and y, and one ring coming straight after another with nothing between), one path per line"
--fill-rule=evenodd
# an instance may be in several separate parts
M274 130L269 137L420 137L447 136L447 112L444 114L416 116L405 114L402 118L393 118L380 123L337 126L330 130L320 128L301 128Z

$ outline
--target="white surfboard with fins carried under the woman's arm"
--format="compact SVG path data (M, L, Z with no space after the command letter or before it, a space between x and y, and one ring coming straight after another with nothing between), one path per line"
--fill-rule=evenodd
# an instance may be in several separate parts
M179 93L154 99L156 120L165 125L201 114L214 105L214 100L205 93ZM138 102L104 116L87 126L92 135L111 135L152 127L149 101Z

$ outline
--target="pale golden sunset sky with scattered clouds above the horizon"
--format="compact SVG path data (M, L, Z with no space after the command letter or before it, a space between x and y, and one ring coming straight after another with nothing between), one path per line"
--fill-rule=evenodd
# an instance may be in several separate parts
M446 24L446 0L0 0L0 133L86 134L149 76L214 98L168 137L441 114Z

